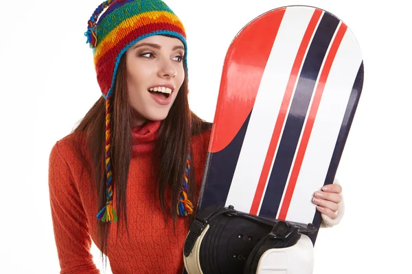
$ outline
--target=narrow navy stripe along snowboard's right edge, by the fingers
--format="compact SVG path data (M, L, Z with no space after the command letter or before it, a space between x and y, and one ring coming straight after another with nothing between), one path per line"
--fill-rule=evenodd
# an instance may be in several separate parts
M330 160L330 165L329 165L328 173L326 174L326 177L325 177L324 184L332 184L334 181L334 177L336 175L339 162L341 161L341 155L343 153L343 148L345 147L347 135L349 134L349 130L352 125L352 121L354 119L356 108L358 107L359 97L361 97L362 86L363 86L363 62L361 63L361 66L359 67L358 74L356 75L356 79L354 82L354 86L352 87L352 92L350 93L350 98L349 98L349 101L347 103L347 107L345 110L345 116L343 116L341 130L339 131L339 135L336 140L336 145L334 147L332 159ZM321 221L322 221L321 214L320 212L317 211L316 214L314 214L312 223L316 227L320 227ZM313 244L317 237L318 232L319 230L314 234L308 235L310 240L312 240Z

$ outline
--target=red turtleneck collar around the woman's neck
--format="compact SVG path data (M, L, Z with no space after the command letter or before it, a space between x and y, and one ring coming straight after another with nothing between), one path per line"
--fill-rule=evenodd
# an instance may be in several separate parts
M153 151L160 123L161 121L147 121L144 125L132 127L132 157Z

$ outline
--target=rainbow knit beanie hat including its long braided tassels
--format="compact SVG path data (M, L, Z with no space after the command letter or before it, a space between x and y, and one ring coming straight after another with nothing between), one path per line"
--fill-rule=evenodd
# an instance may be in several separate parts
M103 222L115 222L117 215L113 207L111 114L113 88L120 58L139 40L155 35L174 36L179 38L185 47L183 64L187 71L186 34L179 18L161 0L108 0L93 12L84 35L87 36L87 43L93 49L98 84L106 100L106 206L100 210L97 218ZM193 208L186 193L189 170L190 153L187 156L185 176L176 207L177 214L181 216L191 214Z

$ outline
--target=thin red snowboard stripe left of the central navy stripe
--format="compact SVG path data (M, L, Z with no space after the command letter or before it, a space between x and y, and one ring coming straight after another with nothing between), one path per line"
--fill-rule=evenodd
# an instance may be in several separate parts
M292 71L290 72L290 77L288 80L288 84L286 86L282 105L279 110L279 115L277 116L275 129L273 129L271 143L269 145L268 152L266 153L266 158L264 160L264 165L258 182L258 187L256 188L255 197L253 198L253 203L250 211L251 214L258 214L260 201L262 200L264 187L266 186L269 171L271 170L273 157L275 156L277 143L279 142L280 133L282 132L282 127L284 125L286 113L288 112L290 99L292 98L293 89L295 88L297 77L299 75L299 70L304 60L305 53L308 49L310 39L313 36L314 29L316 29L317 23L319 22L319 18L321 18L321 15L322 10L314 10L312 18L310 19L310 22L304 34L304 38L302 38L301 45L299 46L299 50L297 51L295 62L293 63Z

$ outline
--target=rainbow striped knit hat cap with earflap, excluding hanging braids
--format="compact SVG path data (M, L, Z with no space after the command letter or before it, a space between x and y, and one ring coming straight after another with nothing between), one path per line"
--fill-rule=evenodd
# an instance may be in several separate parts
M105 8L107 10L96 22ZM93 12L84 35L93 48L95 70L104 98L113 92L117 66L123 53L139 40L161 34L174 36L183 42L183 61L187 69L185 29L163 1L108 0Z

